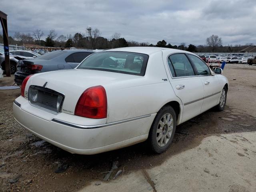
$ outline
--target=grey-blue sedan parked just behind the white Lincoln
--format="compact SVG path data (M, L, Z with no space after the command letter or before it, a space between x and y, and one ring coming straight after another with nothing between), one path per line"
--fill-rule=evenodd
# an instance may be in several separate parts
M34 59L19 60L14 81L21 85L24 78L31 74L73 69L92 53L89 50L57 50Z

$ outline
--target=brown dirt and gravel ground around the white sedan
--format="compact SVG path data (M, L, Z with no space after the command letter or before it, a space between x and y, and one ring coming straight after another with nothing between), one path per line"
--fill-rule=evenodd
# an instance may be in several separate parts
M170 148L158 155L147 150L146 142L92 156L65 152L15 122L12 102L20 95L20 89L0 90L0 192L78 191L92 183L101 184L113 161L120 163L125 176L138 170L154 170L166 159L196 148L204 138L255 132L256 66L227 64L224 75L230 83L225 110L208 110L177 126ZM13 77L0 79L0 86L12 84ZM59 165L67 168L55 173ZM256 169L255 164L252 168Z

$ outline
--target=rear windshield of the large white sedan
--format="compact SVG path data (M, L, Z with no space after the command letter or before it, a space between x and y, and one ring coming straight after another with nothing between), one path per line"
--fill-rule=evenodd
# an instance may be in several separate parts
M147 62L146 54L107 51L88 56L77 68L144 76Z

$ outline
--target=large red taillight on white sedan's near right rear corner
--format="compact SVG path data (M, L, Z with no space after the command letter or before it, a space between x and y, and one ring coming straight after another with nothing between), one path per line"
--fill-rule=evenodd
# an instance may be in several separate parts
M86 89L80 96L75 109L75 115L102 119L107 117L107 95L102 86Z

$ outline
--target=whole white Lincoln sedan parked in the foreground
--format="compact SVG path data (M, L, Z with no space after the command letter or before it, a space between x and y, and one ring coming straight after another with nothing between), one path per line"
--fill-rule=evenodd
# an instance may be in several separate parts
M178 124L212 107L224 109L228 80L220 68L214 72L182 50L96 52L75 69L26 77L13 113L22 127L71 153L97 154L145 140L161 153Z

